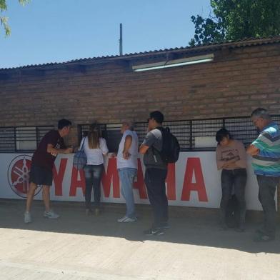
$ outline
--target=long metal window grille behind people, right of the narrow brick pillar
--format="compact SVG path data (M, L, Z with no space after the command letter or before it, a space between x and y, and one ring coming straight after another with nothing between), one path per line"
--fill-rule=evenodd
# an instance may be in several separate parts
M271 117L280 126L280 115L273 115ZM250 116L164 121L163 125L165 127L168 126L171 133L176 136L181 151L215 151L216 131L223 127L229 130L234 139L242 141L244 146L251 144L251 142L259 135ZM121 124L100 124L100 126L102 136L107 141L109 151L117 151L119 142L121 141ZM146 122L136 123L135 130L139 137L139 144L144 140L147 127L148 124ZM80 140L82 134L88 130L89 124L79 124Z

